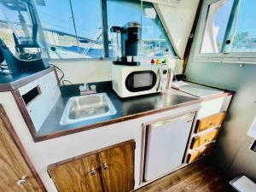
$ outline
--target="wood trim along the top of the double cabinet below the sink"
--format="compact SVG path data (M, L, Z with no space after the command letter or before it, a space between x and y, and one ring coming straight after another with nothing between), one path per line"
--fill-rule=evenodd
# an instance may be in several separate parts
M136 146L135 140L134 140L134 139L131 139L131 140L128 140L128 141L125 141L125 142L122 142L122 143L117 143L117 144L114 144L114 145L111 145L111 146L108 146L108 147L105 147L105 148L96 149L96 150L90 151L90 152L88 152L88 153L86 153L86 154L80 154L80 155L78 155L78 156L69 158L69 159L67 159L67 160L61 160L61 161L59 161L59 162L57 162L57 163L54 163L54 164L49 165L49 166L47 167L47 170L52 169L52 168L54 168L55 166L61 166L61 165L67 164L67 163L69 163L69 162L72 162L73 160L82 159L82 158L84 158L84 157L90 156L91 154L98 154L98 153L100 153L100 152L102 152L102 151L105 151L105 150L108 150L108 149L110 149L110 148L117 148L117 147L119 147L120 145L124 145L124 144L127 144L127 143L134 143L134 146Z

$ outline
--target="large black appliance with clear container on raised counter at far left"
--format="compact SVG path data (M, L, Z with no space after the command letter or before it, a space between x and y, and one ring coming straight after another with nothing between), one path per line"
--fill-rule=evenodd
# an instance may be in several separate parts
M5 36L0 36L0 61L5 61L8 67L0 73L37 72L49 67L47 52L38 41L38 22L32 3L5 0L0 1L0 9L7 23L3 26Z

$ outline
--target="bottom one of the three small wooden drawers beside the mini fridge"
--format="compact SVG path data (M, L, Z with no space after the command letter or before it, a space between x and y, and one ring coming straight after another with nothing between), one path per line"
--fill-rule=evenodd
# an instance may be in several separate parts
M212 154L212 150L214 148L214 143L208 144L204 147L199 148L198 150L195 150L193 152L190 152L188 155L187 163L192 163L195 160L199 160L202 157L207 156L208 154Z

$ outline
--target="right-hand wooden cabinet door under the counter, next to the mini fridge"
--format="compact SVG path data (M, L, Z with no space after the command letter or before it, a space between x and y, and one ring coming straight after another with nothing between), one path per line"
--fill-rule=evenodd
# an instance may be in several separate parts
M135 143L125 143L100 152L99 160L105 191L128 192L134 189Z

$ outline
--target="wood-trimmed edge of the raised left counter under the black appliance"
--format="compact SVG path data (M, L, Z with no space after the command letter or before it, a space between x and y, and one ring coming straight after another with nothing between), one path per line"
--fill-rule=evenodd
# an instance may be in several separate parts
M54 71L55 68L54 67L49 67L47 69L44 69L43 71L40 71L38 73L34 73L31 75L28 75L27 77L15 80L11 83L7 83L7 84L0 84L0 92L7 92L7 91L15 91L18 90L20 87L29 84L30 82L32 82L35 79L41 78L42 76L44 76L45 74L48 74L52 71Z

